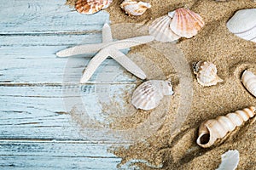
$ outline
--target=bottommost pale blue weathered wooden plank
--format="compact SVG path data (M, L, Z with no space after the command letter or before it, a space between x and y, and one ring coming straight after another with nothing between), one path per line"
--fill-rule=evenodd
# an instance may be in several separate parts
M0 141L2 169L116 169L120 159L111 144L50 141Z

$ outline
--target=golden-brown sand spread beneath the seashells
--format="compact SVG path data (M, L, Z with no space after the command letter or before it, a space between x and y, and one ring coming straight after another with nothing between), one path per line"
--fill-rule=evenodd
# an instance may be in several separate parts
M141 111L143 118L131 116L129 120L116 122L117 124L113 128L133 128L139 126L143 119L148 119L145 114L156 113L157 115L157 112L168 108L162 117L161 126L146 141L138 141L129 148L118 148L113 153L123 158L123 164L132 159L148 161L148 163L136 163L141 169L205 170L217 168L221 161L221 155L225 151L238 150L240 162L237 169L256 169L256 118L237 127L235 131L228 133L225 139L218 140L209 149L203 149L195 143L201 122L250 105L256 105L256 99L246 91L240 81L241 72L245 69L256 73L256 45L254 42L236 37L225 26L227 20L237 10L256 8L256 3L250 0L218 3L213 0L151 0L147 2L152 4L152 8L148 9L143 16L130 17L119 8L121 1L113 1L107 11L110 14L115 37L136 36L138 32L134 31L130 32L131 35L128 33L125 35L125 31L129 31L129 28L124 27L129 26L127 23L147 25L167 12L183 6L200 14L206 22L206 26L195 37L183 38L177 44L153 42L149 45L131 48L129 55L137 63L142 64L148 79L171 78L175 94L167 98L171 100L169 105L160 105L160 108L152 112ZM119 24L125 24L123 30ZM155 50L155 47L160 47L160 51ZM179 62L175 61L180 53L178 50L183 53L186 60L184 65L189 65L189 73L188 70L185 70L186 66L176 68L177 65L173 65L173 62ZM143 62L144 58L137 58L138 55L153 61L155 65L159 66L160 71L152 71L154 65L147 64L149 61ZM173 55L174 61L170 62L165 55L171 56L171 59ZM199 60L208 60L217 65L218 76L224 79L224 82L210 88L204 88L196 82L191 65ZM183 68L184 70L181 70ZM183 75L187 76L186 80L191 80L191 87L187 89L182 86L185 83L181 81L183 71ZM184 96L189 99L183 98ZM184 100L180 102L181 99ZM186 102L190 103L184 105ZM189 110L182 110L184 107ZM139 121L136 121L138 119ZM173 127L177 129L172 129Z

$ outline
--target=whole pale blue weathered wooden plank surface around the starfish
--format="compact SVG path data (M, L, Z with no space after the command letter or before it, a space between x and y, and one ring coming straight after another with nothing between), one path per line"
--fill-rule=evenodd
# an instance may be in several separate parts
M93 54L59 59L55 53L102 42L109 16L78 14L65 2L0 3L0 169L116 169L121 160L108 149L130 144L72 112L82 100L89 118L101 116L97 93L109 99L131 92L137 78L106 59L90 82L79 84Z

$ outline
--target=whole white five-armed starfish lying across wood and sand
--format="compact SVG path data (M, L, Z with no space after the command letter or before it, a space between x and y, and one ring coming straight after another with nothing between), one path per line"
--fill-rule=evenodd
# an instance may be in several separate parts
M154 40L153 36L142 36L142 37L132 37L124 40L119 40L113 42L113 37L111 33L110 26L105 23L102 27L102 43L96 44L85 44L79 45L73 48L67 48L56 53L58 57L68 57L71 55L78 54L92 54L97 53L92 59L90 59L89 64L84 70L83 77L80 82L87 82L93 73L96 71L99 65L108 58L108 56L115 59L120 65L125 67L127 71L130 71L136 77L145 79L146 75L131 59L129 59L125 54L120 52L120 49L131 48L143 43L152 42Z

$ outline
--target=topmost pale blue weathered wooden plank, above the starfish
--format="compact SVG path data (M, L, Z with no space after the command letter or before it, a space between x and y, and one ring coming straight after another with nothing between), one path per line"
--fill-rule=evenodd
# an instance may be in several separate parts
M0 33L99 31L108 13L79 14L66 0L12 0L0 3Z

